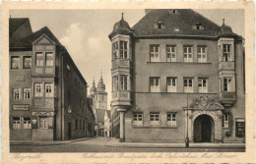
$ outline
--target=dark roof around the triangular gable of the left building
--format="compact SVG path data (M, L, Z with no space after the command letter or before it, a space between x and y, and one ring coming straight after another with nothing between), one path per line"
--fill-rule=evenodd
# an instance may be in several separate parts
M34 42L43 34L48 36L57 45L62 45L48 27L42 27L39 30L33 32L31 35L12 42L10 47L32 47L32 42Z

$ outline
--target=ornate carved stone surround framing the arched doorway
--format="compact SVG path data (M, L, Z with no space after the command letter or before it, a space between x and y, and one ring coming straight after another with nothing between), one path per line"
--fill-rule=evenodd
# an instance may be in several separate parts
M224 106L208 96L200 96L188 108L184 108L188 114L188 137L194 141L194 122L198 116L208 115L214 120L214 139L212 142L223 141L223 110ZM188 112L188 113L187 113Z

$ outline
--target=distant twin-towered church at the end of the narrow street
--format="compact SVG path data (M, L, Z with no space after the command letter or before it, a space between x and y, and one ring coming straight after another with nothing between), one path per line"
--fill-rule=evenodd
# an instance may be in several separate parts
M97 82L97 86L94 80L90 89L89 97L93 99L92 108L96 116L96 136L104 137L104 115L107 110L107 92L105 91L105 84L103 82L102 75Z

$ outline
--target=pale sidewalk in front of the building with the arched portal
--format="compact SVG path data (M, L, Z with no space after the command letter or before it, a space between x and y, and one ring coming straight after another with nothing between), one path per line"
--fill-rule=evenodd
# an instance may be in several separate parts
M119 142L118 138L111 138L105 146L132 148L185 148L185 142ZM190 148L244 148L245 143L189 143Z

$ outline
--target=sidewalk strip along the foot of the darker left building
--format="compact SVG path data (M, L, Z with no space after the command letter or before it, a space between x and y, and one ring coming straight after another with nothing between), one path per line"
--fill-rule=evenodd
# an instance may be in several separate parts
M66 144L75 141L92 139L94 137L82 137L72 140L63 140L63 141L32 141L32 140L10 140L11 145L58 145L58 144Z

